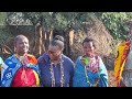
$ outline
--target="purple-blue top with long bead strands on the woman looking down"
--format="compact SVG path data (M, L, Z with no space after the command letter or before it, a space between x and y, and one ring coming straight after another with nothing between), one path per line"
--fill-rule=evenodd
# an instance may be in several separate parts
M65 55L58 64L51 63L48 54L38 57L43 87L70 87L73 85L74 62Z

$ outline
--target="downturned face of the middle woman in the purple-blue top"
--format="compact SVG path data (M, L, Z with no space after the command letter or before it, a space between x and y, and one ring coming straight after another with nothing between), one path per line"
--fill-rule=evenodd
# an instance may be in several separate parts
M56 45L50 45L47 51L51 61L58 61L61 58L62 50Z

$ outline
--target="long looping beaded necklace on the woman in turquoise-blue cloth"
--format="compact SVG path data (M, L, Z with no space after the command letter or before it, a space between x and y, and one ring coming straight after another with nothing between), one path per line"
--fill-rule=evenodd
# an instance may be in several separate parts
M95 56L95 57L96 57L96 56ZM91 63L92 63L92 62L91 62ZM89 64L89 65L92 65L92 64ZM90 67L89 65L85 65L85 75L86 75L87 82L89 84L90 87L97 87L98 84L99 84L99 79L96 80L95 84L91 84L91 82L89 81L89 78L88 78L88 72L87 72L88 68ZM99 66L99 59L98 59L98 57L96 57L96 64L95 64L95 66L96 66L96 65Z

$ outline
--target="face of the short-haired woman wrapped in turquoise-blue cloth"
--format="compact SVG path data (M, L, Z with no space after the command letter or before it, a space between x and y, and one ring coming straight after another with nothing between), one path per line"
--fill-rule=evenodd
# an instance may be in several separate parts
M95 54L95 47L92 42L85 42L82 48L84 54L87 56L92 56Z

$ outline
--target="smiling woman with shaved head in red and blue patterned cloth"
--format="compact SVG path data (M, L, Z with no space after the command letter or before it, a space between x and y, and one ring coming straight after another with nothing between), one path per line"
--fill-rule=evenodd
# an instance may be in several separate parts
M15 54L4 61L1 70L2 87L33 87L40 85L37 59L28 54L29 40L24 35L14 38Z

